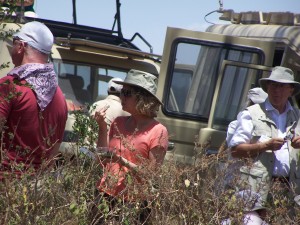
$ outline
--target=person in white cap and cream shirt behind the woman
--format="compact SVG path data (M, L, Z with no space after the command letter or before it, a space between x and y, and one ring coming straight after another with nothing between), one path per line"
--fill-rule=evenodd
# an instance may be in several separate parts
M100 101L95 102L91 107L91 115L95 115L95 112L100 109L106 109L105 122L107 124L107 129L109 129L110 124L118 116L129 116L130 114L122 109L120 93L123 85L117 84L114 81L123 81L121 78L112 78L108 82L107 94L108 96Z

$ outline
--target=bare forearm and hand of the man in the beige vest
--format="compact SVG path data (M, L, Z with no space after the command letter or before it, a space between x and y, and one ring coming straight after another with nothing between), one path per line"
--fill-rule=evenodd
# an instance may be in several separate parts
M279 150L285 143L283 138L271 138L265 142L254 144L239 144L231 148L231 154L236 158L255 157L258 154L267 150Z

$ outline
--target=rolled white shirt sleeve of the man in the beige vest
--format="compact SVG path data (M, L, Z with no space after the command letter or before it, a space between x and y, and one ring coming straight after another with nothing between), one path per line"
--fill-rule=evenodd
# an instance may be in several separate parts
M250 143L252 138L253 123L248 110L239 113L235 133L230 140L229 147Z

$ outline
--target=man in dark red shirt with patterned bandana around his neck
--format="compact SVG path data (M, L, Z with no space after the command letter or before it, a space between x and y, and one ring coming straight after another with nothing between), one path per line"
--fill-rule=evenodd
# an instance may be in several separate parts
M49 167L58 154L67 105L53 64L53 35L40 22L13 35L15 68L0 79L0 179Z

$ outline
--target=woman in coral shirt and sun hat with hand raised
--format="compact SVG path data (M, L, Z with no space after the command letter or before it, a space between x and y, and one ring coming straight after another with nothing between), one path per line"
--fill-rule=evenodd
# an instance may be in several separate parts
M144 193L136 194L127 186L128 175L142 184L144 173L153 172L163 161L168 147L168 131L155 120L161 101L155 96L157 77L139 70L130 70L122 84L123 110L130 116L117 117L106 135L106 109L95 113L99 125L98 147L109 147L109 157L103 158L103 176L98 189L108 199L143 201ZM150 172L150 173L151 173ZM137 185L139 186L139 185ZM142 185L140 185L143 188ZM140 222L147 213L142 212Z

